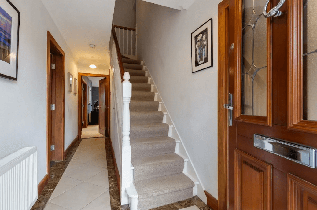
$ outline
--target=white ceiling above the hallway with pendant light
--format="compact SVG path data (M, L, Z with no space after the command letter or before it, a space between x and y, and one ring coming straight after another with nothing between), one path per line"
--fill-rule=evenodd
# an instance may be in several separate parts
M109 68L109 40L115 0L42 0L79 66ZM96 45L91 49L89 44ZM88 65L88 66L89 66Z

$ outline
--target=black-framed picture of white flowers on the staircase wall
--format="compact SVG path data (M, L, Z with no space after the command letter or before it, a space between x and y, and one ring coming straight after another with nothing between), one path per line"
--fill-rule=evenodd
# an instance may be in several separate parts
M191 33L191 73L212 66L212 18Z

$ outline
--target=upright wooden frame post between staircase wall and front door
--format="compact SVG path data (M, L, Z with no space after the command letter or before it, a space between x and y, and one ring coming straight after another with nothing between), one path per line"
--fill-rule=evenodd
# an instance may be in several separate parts
M228 102L229 0L218 4L218 210L227 209L228 190ZM225 58L225 59L223 59Z

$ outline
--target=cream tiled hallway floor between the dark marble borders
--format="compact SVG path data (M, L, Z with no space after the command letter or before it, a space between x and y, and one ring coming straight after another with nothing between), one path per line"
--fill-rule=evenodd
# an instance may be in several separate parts
M110 210L104 138L83 139L44 210Z

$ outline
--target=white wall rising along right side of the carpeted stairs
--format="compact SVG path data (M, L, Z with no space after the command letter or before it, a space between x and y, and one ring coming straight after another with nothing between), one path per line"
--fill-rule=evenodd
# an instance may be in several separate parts
M188 10L137 1L138 58L143 59L197 170L217 198L217 22L221 0ZM212 18L213 67L191 73L191 33Z

